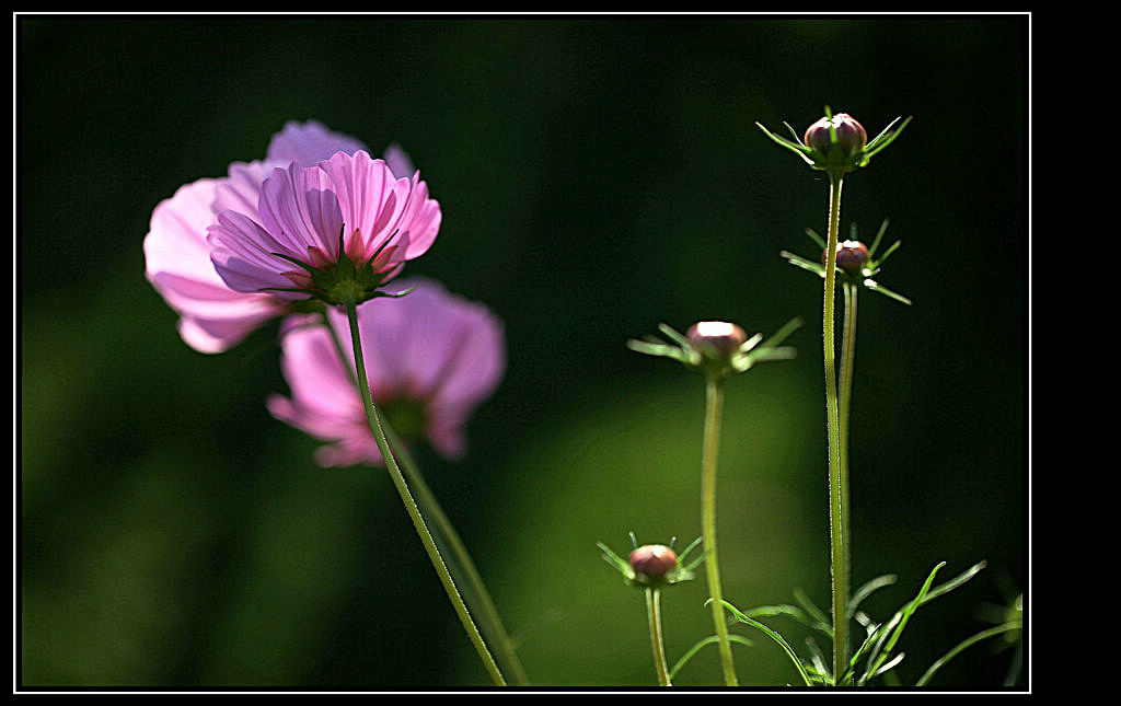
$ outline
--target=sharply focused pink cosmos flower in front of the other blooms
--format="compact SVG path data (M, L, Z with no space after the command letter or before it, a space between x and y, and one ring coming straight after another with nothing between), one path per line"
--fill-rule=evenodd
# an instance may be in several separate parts
M439 222L419 173L398 179L364 150L340 151L315 166L274 169L256 212L220 212L206 241L235 291L360 304L428 250Z

